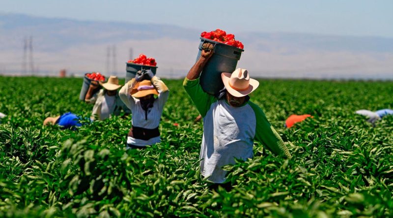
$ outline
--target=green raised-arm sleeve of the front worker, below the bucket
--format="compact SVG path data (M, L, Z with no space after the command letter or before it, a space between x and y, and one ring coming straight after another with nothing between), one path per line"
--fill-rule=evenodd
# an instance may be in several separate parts
M217 98L202 90L202 87L199 85L199 78L190 80L186 77L183 81L183 87L193 100L195 106L197 106L200 115L205 117L210 105L217 101Z

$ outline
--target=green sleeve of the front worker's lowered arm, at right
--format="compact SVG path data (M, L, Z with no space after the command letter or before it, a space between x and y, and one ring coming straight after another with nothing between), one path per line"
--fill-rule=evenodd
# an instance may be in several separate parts
M289 153L288 148L284 145L281 136L267 120L262 109L251 101L249 101L249 104L253 108L256 118L254 139L262 143L263 146L268 148L274 154L284 154L286 157L291 158L292 155Z

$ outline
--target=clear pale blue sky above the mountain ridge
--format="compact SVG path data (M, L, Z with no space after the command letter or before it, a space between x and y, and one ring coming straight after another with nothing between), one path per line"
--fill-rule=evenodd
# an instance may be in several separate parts
M393 0L1 0L0 12L227 32L393 37Z

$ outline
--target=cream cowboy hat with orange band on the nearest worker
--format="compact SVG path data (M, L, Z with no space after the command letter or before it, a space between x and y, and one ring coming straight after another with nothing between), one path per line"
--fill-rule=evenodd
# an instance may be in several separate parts
M252 93L259 82L250 78L246 69L238 68L233 73L221 73L226 90L234 97L243 97Z

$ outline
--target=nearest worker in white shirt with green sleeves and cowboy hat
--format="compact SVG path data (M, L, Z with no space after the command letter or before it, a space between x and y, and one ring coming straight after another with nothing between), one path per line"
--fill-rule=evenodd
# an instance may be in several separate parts
M201 56L191 68L183 86L203 117L200 171L209 181L225 182L225 165L235 159L253 157L253 141L257 140L274 154L291 155L280 135L267 120L262 109L248 96L259 82L250 78L246 69L222 73L225 90L220 97L209 95L199 85L199 74L213 55L213 45L202 45ZM204 72L209 73L209 72ZM215 81L212 81L215 82ZM216 81L219 82L219 81Z

